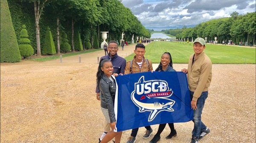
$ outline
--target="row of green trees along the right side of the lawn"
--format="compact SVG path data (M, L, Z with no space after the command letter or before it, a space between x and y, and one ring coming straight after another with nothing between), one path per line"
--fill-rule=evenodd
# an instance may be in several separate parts
M192 38L207 37L208 40L214 40L218 37L218 42L233 40L233 43L239 42L253 42L255 45L256 36L256 13L239 14L233 12L231 17L220 18L202 22L195 27L162 30L166 34L175 35L177 39L187 39L191 41Z

